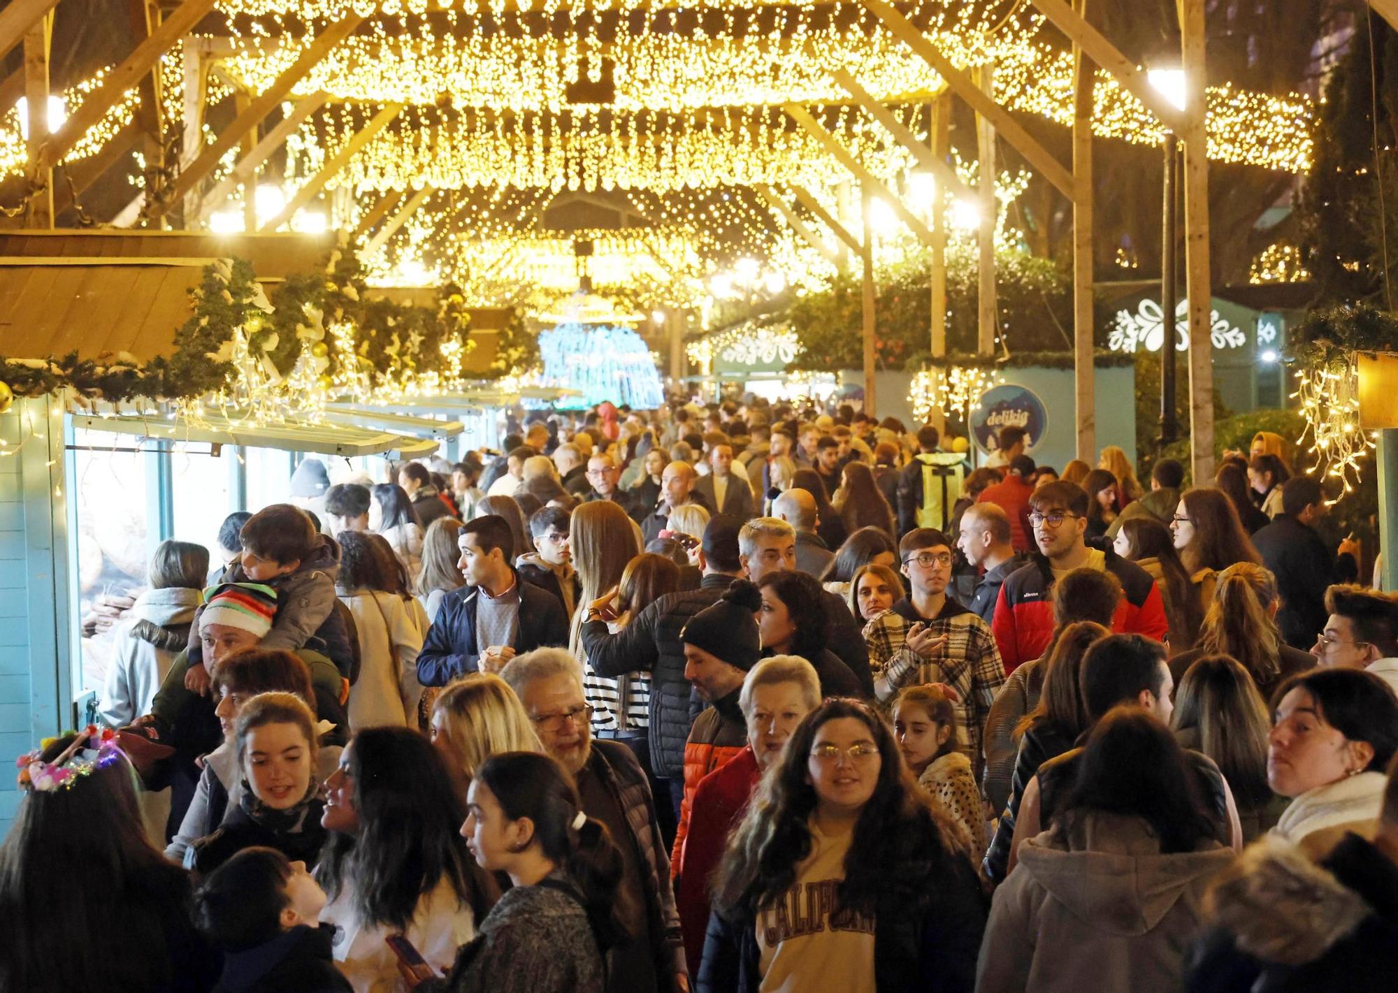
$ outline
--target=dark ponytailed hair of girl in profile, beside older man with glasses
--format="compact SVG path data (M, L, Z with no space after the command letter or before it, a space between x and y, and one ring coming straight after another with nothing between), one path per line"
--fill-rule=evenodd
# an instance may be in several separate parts
M548 755L507 751L488 758L475 778L495 794L506 817L534 822L534 839L573 884L568 891L587 912L598 951L605 955L625 941L629 936L615 913L621 852L607 825L583 813L568 771Z

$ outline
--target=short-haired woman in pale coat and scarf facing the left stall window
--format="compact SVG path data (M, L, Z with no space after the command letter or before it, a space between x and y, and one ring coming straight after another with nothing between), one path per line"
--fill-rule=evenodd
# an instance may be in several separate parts
M161 541L151 555L150 589L116 625L112 662L102 681L98 715L124 727L150 713L171 663L189 643L189 625L203 603L208 548L189 541Z

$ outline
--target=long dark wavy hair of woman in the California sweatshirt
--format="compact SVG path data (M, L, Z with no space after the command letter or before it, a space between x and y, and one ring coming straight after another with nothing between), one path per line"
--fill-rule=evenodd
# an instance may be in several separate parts
M811 747L821 727L842 717L870 729L881 765L844 856L844 880L836 890L840 908L871 913L889 892L910 909L925 906L938 880L953 871L955 859L973 859L962 832L913 779L884 719L858 701L828 699L791 734L780 764L762 779L730 838L714 880L720 910L756 913L795 883L797 866L811 855L809 821L816 807L807 772Z

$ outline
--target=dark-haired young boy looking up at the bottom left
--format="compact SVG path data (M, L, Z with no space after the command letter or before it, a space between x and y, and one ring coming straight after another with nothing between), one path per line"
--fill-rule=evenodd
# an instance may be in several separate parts
M334 929L317 924L326 894L305 863L270 848L243 849L194 896L199 929L224 951L225 993L350 993L330 955Z

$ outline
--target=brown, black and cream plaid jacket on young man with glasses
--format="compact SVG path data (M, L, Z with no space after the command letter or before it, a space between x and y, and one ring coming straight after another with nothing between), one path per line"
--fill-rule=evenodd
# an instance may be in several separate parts
M905 646L907 629L917 621L924 621L938 636L946 635L946 646L934 659L923 659ZM921 618L905 597L864 627L864 641L870 646L874 695L885 708L893 706L905 687L924 683L945 683L960 695L955 703L960 722L958 745L970 758L980 782L981 734L990 705L1005 683L990 625L949 597L935 620Z

